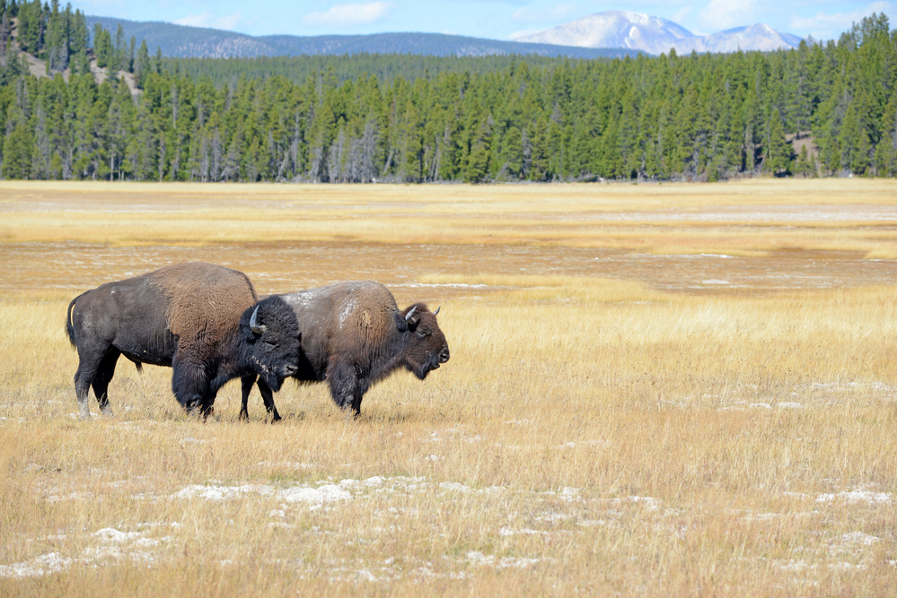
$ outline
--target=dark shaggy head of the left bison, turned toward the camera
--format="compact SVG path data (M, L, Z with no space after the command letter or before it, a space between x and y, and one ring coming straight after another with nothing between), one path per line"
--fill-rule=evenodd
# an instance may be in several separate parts
M299 368L299 323L293 308L279 297L268 297L243 312L240 318L243 363L271 390Z

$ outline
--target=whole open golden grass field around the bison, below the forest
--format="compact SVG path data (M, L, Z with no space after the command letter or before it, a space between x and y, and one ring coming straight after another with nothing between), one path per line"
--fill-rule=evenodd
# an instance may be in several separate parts
M188 418L66 305L204 260L442 305L346 420ZM0 182L0 595L893 595L897 183Z

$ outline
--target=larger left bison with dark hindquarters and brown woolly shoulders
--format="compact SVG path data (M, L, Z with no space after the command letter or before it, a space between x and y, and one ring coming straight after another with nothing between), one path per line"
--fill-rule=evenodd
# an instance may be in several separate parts
M284 299L259 301L246 274L214 264L171 265L88 290L69 304L66 330L78 350L82 419L91 416L91 386L103 415L112 414L106 391L124 355L138 369L143 363L174 368L174 396L203 416L225 382L241 377L249 394L258 377L277 420L269 389L295 374L301 338Z

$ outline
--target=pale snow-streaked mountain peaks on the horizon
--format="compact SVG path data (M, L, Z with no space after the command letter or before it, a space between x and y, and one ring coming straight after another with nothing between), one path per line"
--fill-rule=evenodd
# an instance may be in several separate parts
M738 49L769 51L796 48L800 38L790 33L778 33L761 24L701 36L659 17L629 11L608 11L523 36L517 41L583 48L630 48L649 54L664 54L675 48L678 54L689 54L692 50L734 52Z

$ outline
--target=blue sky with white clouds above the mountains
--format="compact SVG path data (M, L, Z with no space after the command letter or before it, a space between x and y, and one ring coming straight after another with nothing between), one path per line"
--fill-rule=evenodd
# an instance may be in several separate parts
M250 35L427 31L514 39L613 10L662 17L704 35L762 22L801 37L836 39L852 22L871 13L887 14L892 29L897 28L897 0L77 0L72 6L86 14L176 22Z

